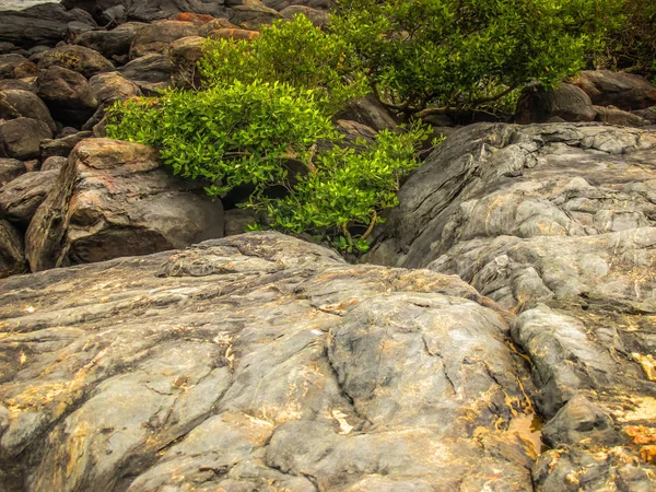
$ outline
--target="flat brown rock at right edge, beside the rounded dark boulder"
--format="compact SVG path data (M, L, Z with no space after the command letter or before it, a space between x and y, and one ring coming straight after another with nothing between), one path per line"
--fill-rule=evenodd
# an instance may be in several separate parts
M616 106L629 112L656 105L656 86L641 75L586 70L572 83L583 89L597 106Z

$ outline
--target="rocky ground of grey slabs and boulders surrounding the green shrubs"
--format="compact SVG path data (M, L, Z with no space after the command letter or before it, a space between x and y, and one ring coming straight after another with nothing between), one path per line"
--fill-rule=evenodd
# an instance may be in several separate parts
M359 266L221 239L249 220L232 201L103 138L113 102L197 83L204 37L328 7L0 12L0 490L656 489L646 80L529 87L523 125L435 119ZM395 125L371 96L339 118Z

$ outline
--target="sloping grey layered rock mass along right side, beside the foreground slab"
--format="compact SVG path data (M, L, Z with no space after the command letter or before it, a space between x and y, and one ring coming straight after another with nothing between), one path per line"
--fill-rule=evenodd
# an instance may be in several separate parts
M538 490L656 488L655 185L655 131L477 125L376 233L370 260L456 273L520 313L513 340L555 419Z

